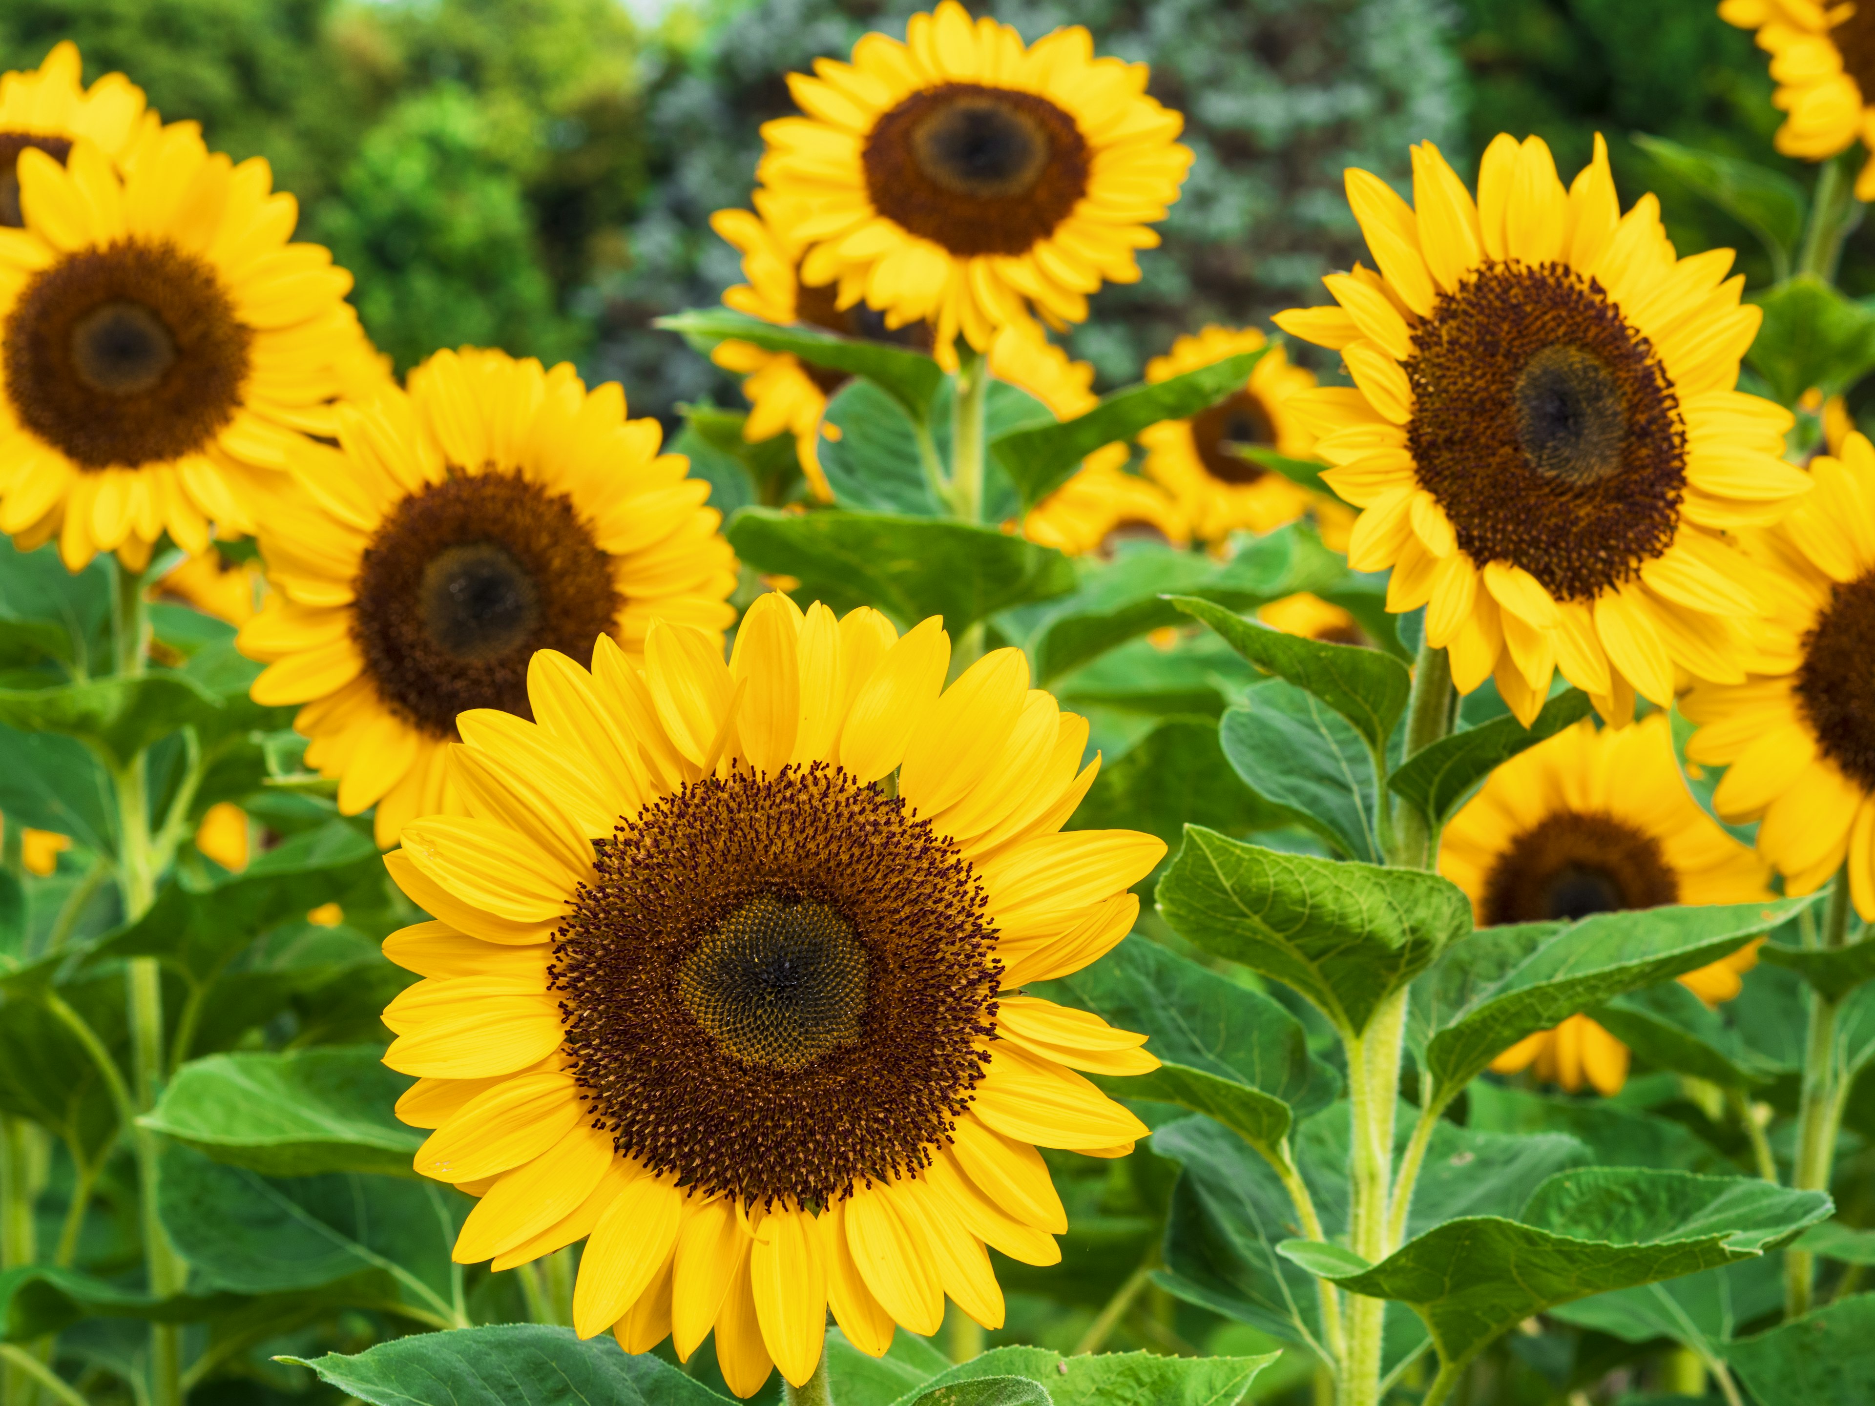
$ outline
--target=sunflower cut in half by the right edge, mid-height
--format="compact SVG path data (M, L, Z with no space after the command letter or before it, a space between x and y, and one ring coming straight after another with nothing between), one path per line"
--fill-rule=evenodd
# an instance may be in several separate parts
M1714 808L1761 821L1785 892L1847 862L1856 911L1875 919L1875 448L1851 431L1809 474L1815 491L1751 542L1774 587L1766 667L1688 694L1701 727L1686 754L1727 769Z

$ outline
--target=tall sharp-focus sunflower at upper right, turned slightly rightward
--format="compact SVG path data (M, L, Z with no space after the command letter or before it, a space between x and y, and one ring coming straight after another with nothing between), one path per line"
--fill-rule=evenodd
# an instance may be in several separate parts
M1348 199L1380 274L1324 279L1339 307L1277 317L1341 349L1354 388L1298 394L1324 478L1363 508L1356 570L1391 566L1388 609L1524 722L1556 667L1603 718L1676 671L1742 681L1759 609L1723 531L1809 487L1787 411L1734 390L1761 313L1729 249L1676 259L1644 195L1622 216L1607 146L1566 191L1549 148L1496 137L1474 204L1427 142L1418 212L1378 176Z

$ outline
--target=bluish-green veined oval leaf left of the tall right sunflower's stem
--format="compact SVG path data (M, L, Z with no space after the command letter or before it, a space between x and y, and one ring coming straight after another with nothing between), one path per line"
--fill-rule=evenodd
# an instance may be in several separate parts
M1374 834L1372 752L1318 697L1269 679L1245 692L1243 707L1224 712L1217 739L1230 769L1292 825L1314 830L1348 859L1384 860Z

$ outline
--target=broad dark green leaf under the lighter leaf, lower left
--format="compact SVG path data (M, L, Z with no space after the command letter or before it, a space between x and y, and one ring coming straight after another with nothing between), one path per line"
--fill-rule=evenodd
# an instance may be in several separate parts
M349 1279L369 1303L452 1322L450 1247L469 1202L435 1181L272 1179L165 1147L158 1213L206 1288L281 1294Z

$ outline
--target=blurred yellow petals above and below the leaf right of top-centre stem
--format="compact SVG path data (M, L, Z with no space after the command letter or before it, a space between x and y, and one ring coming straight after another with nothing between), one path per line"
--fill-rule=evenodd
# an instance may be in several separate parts
M1029 392L1056 420L1072 420L1101 403L1088 362L1072 362L1054 343L1016 328L1005 328L990 345L990 371ZM1162 536L1176 546L1191 542L1178 504L1151 480L1129 474L1127 456L1125 444L1097 448L1072 478L1029 510L1022 534L1069 557L1129 534Z

